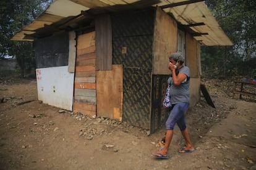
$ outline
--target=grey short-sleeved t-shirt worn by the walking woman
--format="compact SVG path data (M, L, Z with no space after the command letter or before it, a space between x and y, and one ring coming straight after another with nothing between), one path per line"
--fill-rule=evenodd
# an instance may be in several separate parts
M174 86L172 77L168 79L168 84L171 85L171 88L170 88L171 103L172 104L181 103L181 102L189 103L189 82L190 82L189 67L184 66L180 68L178 71L179 73L184 73L185 75L187 75L187 78L179 86Z

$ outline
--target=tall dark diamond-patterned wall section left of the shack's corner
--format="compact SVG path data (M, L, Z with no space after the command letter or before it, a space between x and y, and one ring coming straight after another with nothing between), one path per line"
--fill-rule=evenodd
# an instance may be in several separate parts
M155 11L112 16L113 64L124 66L123 119L150 129L153 21Z

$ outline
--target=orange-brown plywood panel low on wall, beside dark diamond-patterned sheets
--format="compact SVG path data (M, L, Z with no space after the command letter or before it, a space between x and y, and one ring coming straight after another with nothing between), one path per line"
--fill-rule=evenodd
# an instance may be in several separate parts
M122 121L122 65L96 72L97 115Z

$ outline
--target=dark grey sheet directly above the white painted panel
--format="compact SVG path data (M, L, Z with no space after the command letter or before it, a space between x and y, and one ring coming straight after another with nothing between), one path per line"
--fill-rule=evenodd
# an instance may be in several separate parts
M34 42L36 68L66 66L69 62L69 33Z

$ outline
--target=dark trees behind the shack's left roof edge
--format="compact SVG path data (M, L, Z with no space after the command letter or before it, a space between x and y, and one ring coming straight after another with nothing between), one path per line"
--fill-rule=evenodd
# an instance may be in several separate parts
M32 42L11 41L12 36L28 25L53 0L1 0L0 2L0 54L14 55L20 67L20 75L34 67Z

